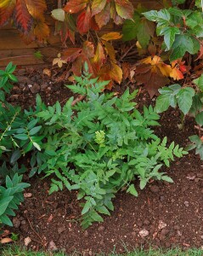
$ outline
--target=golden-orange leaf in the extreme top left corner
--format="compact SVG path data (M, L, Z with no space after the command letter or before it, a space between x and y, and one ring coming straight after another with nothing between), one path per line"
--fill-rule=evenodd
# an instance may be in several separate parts
M0 26L5 25L8 19L14 12L16 0L6 1L4 4L0 3Z

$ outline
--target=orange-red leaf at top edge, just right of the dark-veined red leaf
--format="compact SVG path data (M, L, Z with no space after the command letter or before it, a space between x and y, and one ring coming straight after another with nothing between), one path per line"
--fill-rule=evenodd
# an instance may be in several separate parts
M47 9L45 0L25 0L25 3L33 18L42 19L43 13Z

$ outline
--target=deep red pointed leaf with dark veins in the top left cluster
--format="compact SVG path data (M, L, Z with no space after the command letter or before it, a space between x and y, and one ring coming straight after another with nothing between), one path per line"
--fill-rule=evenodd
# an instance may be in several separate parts
M28 12L25 0L17 0L14 9L14 24L21 32L29 32L33 23L33 18Z

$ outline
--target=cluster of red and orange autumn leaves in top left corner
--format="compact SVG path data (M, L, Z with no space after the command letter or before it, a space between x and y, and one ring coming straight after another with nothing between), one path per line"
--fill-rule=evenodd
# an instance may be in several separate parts
M0 3L0 26L14 20L25 43L34 40L43 42L49 36L44 12L47 9L45 0L3 0Z

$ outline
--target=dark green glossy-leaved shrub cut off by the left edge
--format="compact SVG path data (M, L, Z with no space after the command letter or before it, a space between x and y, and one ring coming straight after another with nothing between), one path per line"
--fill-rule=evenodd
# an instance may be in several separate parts
M31 125L20 108L14 108L5 100L4 92L9 93L12 88L10 83L17 81L14 69L15 66L10 62L5 71L0 70L0 222L8 225L12 225L8 216L14 216L14 210L23 201L22 192L29 186L28 183L22 183L20 175L25 172L25 166L19 168L16 161L21 154L29 151L28 144L37 123Z

